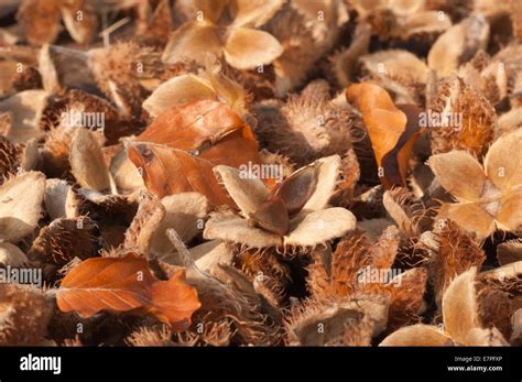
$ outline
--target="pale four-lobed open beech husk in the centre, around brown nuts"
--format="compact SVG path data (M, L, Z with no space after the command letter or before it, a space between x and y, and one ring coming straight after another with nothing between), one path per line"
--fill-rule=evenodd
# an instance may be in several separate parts
M302 206L289 220L286 207L268 211L263 219L286 219L283 230L267 230L249 222L255 218L258 210L270 199L267 186L255 177L244 177L239 170L228 166L216 166L215 173L222 182L230 197L238 205L242 217L232 214L214 214L207 221L204 237L221 239L247 248L283 247L284 249L313 248L340 237L352 230L356 225L354 215L344 208L326 208L335 189L340 164L338 155L328 156L315 162L318 167L316 187L304 199ZM297 172L295 173L297 174ZM297 190L295 190L297 192ZM303 192L300 192L302 197ZM279 217L278 214L283 214ZM262 226L261 226L262 227Z

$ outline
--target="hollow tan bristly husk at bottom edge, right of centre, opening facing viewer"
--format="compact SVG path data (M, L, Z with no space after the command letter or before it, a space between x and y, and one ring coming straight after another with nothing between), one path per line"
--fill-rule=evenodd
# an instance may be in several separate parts
M371 301L306 301L292 306L284 328L290 346L370 346L387 323L387 306Z

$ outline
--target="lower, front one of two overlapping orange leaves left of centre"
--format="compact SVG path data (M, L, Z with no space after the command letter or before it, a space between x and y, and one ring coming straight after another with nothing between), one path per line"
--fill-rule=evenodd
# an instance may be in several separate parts
M214 206L233 206L214 176L210 162L161 144L131 143L128 150L146 188L160 198L196 192L205 195Z

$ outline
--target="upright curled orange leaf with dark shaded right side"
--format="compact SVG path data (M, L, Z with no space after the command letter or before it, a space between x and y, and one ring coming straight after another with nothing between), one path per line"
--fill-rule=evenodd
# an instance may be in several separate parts
M385 90L369 83L351 85L346 98L361 110L382 185L404 186L410 153L421 134L418 108L395 107Z

